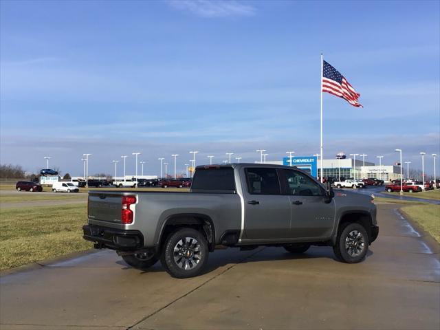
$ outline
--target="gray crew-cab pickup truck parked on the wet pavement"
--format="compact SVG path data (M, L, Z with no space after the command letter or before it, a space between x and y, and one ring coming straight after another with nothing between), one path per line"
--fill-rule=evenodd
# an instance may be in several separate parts
M369 196L334 192L297 168L198 166L189 192L90 191L84 239L132 267L159 259L177 278L200 274L216 248L328 245L340 261L364 259L379 228Z

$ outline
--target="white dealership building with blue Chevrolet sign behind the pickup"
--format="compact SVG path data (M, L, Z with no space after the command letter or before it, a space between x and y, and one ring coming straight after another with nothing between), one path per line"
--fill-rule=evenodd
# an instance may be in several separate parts
M388 165L375 165L371 162L363 162L362 159L344 158L344 159L323 159L322 172L324 177L345 177L364 179L375 177L384 181L399 179L400 167ZM266 164L290 165L290 157L284 157L283 160L266 162ZM365 165L365 166L364 166ZM292 166L296 166L313 177L320 177L321 161L316 156L296 156L292 157Z

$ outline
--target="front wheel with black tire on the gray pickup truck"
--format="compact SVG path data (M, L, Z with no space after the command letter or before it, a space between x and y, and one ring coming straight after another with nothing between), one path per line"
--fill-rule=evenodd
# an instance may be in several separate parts
M360 263L368 251L369 238L364 226L357 222L342 225L333 246L336 258L344 263Z

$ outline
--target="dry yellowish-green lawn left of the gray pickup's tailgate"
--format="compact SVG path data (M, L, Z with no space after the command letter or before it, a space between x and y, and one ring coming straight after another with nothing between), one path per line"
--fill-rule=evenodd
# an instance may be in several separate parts
M0 209L0 270L83 251L87 206Z

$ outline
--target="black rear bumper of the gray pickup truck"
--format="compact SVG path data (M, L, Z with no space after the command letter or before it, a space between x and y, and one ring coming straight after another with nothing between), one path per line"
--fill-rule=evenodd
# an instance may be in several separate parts
M131 251L144 246L144 236L138 230L120 230L100 225L84 225L83 239L96 243L95 248Z

